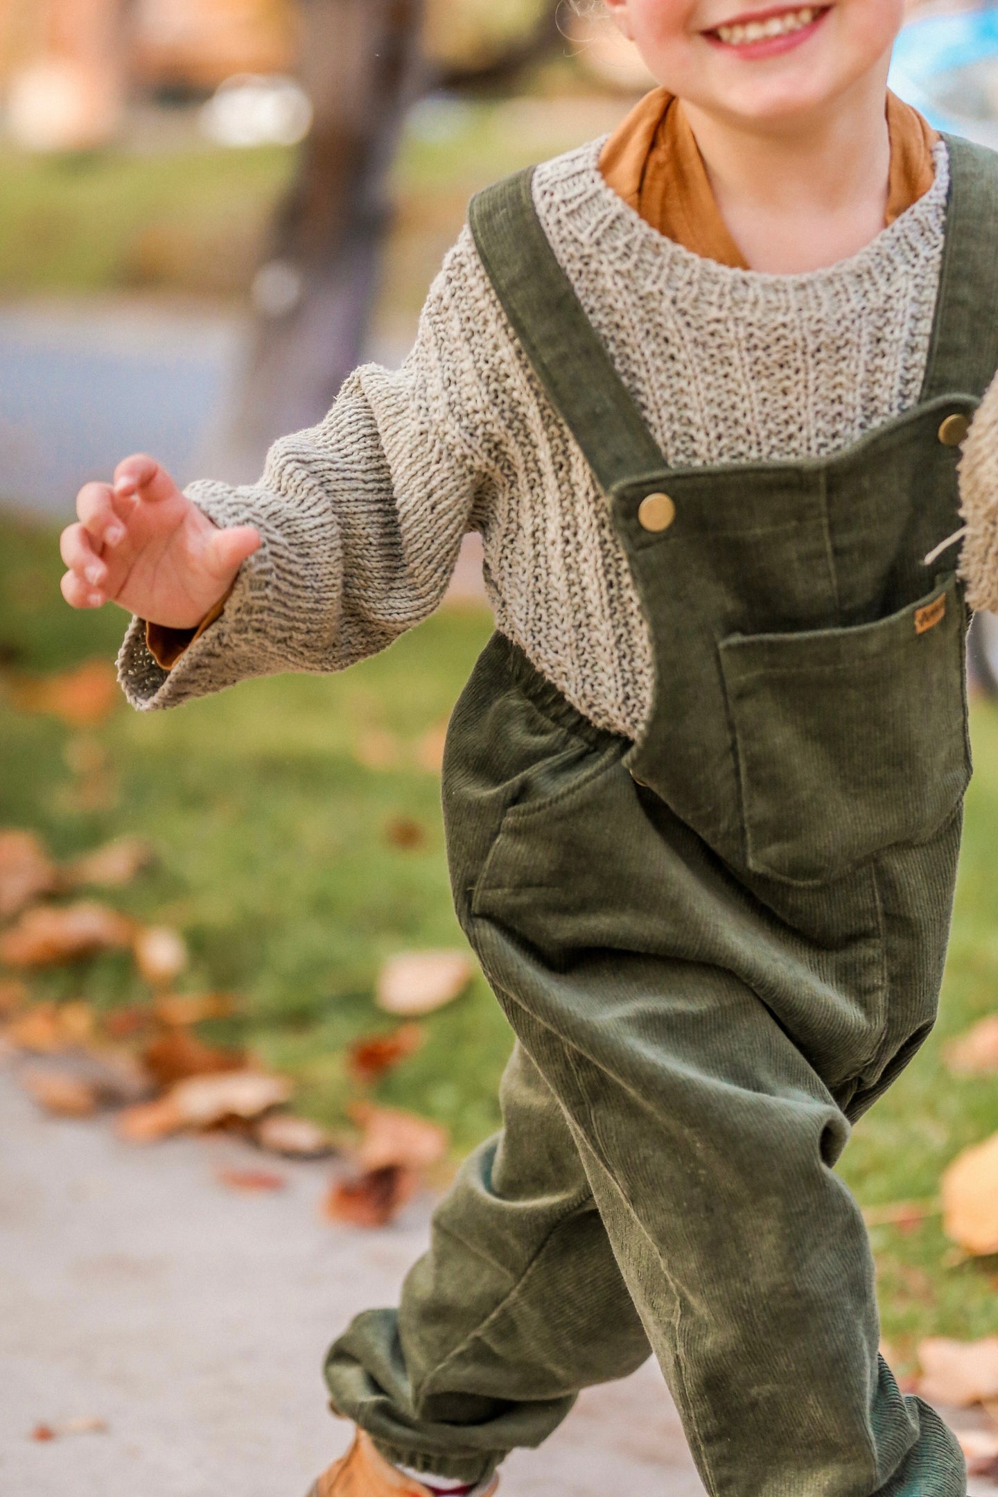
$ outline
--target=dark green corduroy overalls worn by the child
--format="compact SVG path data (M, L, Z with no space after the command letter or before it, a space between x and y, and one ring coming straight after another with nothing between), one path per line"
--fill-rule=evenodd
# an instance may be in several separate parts
M444 760L453 892L516 1031L398 1311L334 1407L474 1479L649 1352L712 1497L961 1497L878 1358L835 1162L929 1031L970 777L965 608L925 557L998 364L998 156L949 141L919 404L830 458L670 470L536 217L479 251L630 558L657 671L631 744L495 635ZM964 418L964 419L953 419Z

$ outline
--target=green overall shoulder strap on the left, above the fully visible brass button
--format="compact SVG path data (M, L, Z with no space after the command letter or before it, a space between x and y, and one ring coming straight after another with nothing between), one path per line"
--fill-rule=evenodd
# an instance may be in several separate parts
M543 231L534 169L486 187L468 222L485 271L537 379L610 496L667 467Z

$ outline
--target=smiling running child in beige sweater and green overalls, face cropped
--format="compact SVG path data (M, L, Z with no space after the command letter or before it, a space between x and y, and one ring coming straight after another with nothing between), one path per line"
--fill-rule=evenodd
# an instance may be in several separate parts
M476 199L405 365L257 487L88 485L63 591L136 614L150 710L383 648L483 536L443 799L504 1129L329 1352L313 1493L491 1493L651 1349L715 1497L958 1497L833 1165L937 1006L998 165L887 99L901 0L609 3L663 87Z

